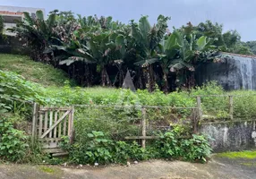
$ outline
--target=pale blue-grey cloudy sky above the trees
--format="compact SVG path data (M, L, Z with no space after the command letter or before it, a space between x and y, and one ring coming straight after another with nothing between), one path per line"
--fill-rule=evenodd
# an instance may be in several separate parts
M171 17L169 29L179 28L188 21L197 25L201 21L223 24L224 31L237 30L243 41L256 40L256 0L0 0L0 5L58 9L84 16L112 16L128 23L149 15L151 24L158 15Z

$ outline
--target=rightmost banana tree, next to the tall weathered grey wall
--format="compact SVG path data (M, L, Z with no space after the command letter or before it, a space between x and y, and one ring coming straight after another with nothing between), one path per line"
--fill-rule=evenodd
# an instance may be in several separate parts
M201 36L196 39L193 33L183 35L179 31L176 31L175 34L179 51L176 58L171 61L169 68L171 72L176 72L179 87L183 85L190 88L194 85L194 79L188 81L188 76L193 77L196 65L217 55L217 50L212 45L213 39L211 38Z

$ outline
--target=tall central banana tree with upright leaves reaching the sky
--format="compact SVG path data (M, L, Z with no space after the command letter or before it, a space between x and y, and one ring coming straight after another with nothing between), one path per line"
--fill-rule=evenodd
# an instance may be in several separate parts
M147 68L149 91L152 91L154 86L152 64L158 62L158 44L164 38L169 19L169 17L159 15L158 22L153 27L149 24L148 16L142 16L139 24L131 21L132 38L137 58L135 64Z

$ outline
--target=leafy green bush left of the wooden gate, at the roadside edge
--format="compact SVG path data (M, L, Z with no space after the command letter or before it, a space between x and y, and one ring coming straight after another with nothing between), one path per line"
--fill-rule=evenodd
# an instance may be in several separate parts
M0 156L4 160L21 161L28 144L28 136L13 128L6 118L0 120Z

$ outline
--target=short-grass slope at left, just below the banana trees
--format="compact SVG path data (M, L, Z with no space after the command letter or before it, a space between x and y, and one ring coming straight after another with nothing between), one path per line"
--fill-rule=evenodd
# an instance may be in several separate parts
M0 54L0 70L21 74L26 80L38 82L44 86L64 86L68 80L65 72L51 65L30 60L25 55Z

